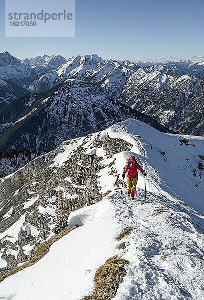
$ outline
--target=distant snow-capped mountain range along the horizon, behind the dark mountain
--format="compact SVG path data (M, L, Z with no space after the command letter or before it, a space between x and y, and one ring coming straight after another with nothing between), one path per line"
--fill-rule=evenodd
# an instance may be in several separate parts
M25 93L40 93L64 80L79 79L171 130L204 134L203 61L136 63L96 54L67 60L60 55L20 60L4 52L0 53L0 79L0 108Z

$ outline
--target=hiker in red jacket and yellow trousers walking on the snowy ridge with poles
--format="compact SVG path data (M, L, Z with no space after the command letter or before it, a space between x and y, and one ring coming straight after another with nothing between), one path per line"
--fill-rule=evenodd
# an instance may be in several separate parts
M143 173L144 176L147 175L143 168L139 165L139 163L137 163L135 156L131 155L130 158L126 161L126 166L123 168L122 176L124 178L125 174L127 173L127 192L128 196L131 196L132 199L134 199L136 193L138 169L141 171L141 173Z

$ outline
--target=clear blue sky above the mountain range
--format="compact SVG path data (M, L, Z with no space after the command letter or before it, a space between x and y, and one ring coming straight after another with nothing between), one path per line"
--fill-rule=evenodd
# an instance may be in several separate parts
M5 37L0 0L0 52L19 58L96 53L130 60L191 55L204 60L203 13L204 0L76 0L75 37Z

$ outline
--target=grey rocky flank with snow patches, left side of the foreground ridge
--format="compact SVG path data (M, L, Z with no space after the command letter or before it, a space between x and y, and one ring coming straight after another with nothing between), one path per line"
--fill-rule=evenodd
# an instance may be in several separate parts
M100 147L107 154L108 164L96 154ZM101 191L100 186L103 168L113 178L113 189L119 188L121 180L114 168L113 154L131 147L108 133L105 137L93 133L66 141L0 179L0 232L14 224L19 226L17 236L11 238L8 234L0 240L0 255L7 262L0 271L30 259L40 242L66 227L71 211L96 203L108 194L110 190ZM25 252L25 248L30 250Z

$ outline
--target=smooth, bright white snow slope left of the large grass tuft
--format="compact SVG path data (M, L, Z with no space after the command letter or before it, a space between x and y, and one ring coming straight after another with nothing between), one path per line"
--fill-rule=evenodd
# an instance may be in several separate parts
M75 217L84 225L55 242L37 263L4 279L0 283L0 297L78 300L86 295L93 286L96 269L117 252L114 239L121 227L112 217L112 209L106 200L93 209L80 209Z

